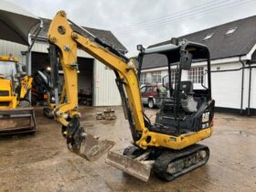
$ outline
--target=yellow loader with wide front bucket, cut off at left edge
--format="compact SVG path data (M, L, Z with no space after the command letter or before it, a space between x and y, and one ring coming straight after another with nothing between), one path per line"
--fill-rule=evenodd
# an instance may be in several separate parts
M16 58L0 56L0 135L35 132L34 110L26 100L32 80Z

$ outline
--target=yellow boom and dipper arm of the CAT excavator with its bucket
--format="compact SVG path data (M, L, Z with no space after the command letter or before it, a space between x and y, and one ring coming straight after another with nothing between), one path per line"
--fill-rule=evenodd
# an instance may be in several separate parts
M57 121L63 126L63 134L67 137L69 149L72 152L89 160L95 160L95 156L100 157L100 154L106 152L113 145L109 141L99 142L92 135L84 133L83 128L80 126L77 96L78 47L114 70L120 91L129 98L126 101L126 110L130 118L129 123L132 126L133 139L136 137L135 133L143 132L143 107L133 60L128 60L122 57L121 54L118 55L118 52L112 51L108 45L102 43L98 38L91 40L89 37L84 37L74 32L64 11L59 11L52 20L48 29L48 40L50 43L50 56L57 56L57 54L53 53L58 50L59 62L63 69L65 80L65 90L63 90L64 94L62 93L61 98L66 97L66 101L59 104L54 114ZM50 60L51 62L54 62L54 60L57 62L58 59L51 58ZM64 100L62 99L62 101Z

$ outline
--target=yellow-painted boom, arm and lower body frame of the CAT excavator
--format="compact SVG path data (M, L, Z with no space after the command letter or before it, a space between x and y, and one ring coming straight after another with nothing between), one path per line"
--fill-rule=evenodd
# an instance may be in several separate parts
M135 129L137 132L142 133L141 139L136 142L138 146L143 149L148 146L182 149L191 144L196 144L211 135L212 126L197 133L187 133L179 136L150 132L144 125L141 93L133 60L131 59L127 63L125 60L113 55L107 48L102 48L91 41L90 38L73 32L64 11L59 11L53 18L48 29L48 40L59 48L60 63L64 71L65 94L62 93L62 99L67 96L68 100L67 102L62 100L63 102L54 112L56 119L64 126L68 124L65 119L65 113L69 114L70 117L79 114L78 72L76 68L77 48L79 47L95 59L100 60L104 65L117 71L121 77L128 98L129 109L133 115ZM147 137L151 137L149 142L147 142Z

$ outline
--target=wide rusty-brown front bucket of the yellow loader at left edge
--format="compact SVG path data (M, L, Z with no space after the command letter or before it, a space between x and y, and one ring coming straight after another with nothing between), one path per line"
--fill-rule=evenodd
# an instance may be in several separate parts
M0 110L0 135L35 131L36 119L33 108Z

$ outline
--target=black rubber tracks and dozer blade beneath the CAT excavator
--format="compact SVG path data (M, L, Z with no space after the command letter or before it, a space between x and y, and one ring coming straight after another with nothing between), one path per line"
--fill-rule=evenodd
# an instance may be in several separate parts
M151 170L156 176L171 181L205 165L208 158L208 146L202 144L193 144L178 151L159 148L142 150L129 146L123 155L109 152L106 163L144 181L149 179Z

